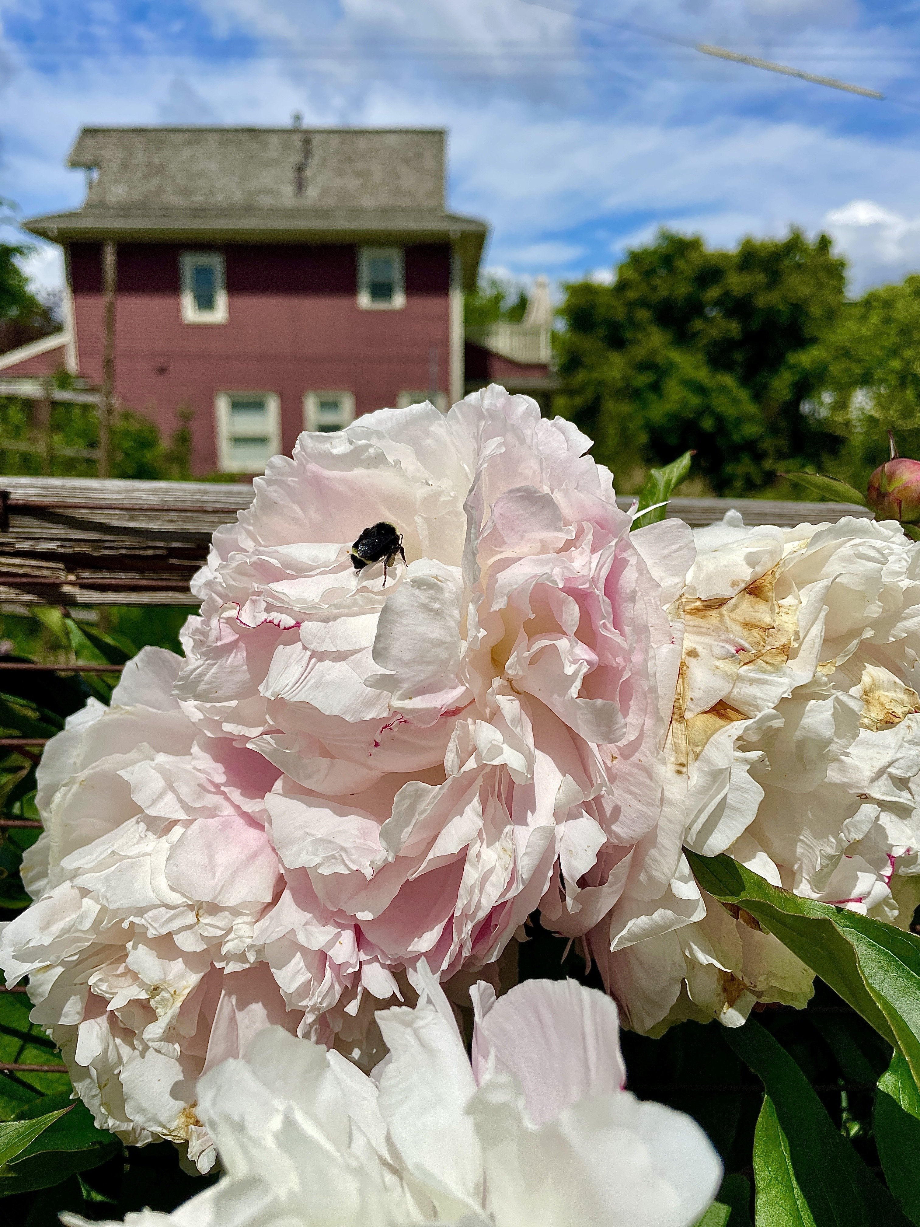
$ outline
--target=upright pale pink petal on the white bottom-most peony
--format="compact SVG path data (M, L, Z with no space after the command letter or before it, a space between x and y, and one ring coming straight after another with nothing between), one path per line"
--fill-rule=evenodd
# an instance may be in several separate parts
M472 1038L477 1081L492 1067L513 1074L535 1124L626 1086L619 1016L608 996L575 980L525 980L498 1000L489 994L480 996Z

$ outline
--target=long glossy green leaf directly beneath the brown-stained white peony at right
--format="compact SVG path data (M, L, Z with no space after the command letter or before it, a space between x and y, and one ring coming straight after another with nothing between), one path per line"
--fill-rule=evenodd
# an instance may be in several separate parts
M797 955L908 1059L920 1081L920 937L770 886L730 856L687 852L697 881Z

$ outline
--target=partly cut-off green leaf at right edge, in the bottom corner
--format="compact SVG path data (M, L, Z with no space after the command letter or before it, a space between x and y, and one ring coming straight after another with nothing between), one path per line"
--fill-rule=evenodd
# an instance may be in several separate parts
M920 1091L900 1053L878 1080L872 1130L888 1188L910 1221L920 1223Z

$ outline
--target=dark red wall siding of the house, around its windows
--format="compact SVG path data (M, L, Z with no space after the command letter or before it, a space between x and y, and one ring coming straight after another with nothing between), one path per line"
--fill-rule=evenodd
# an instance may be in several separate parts
M275 391L289 452L303 428L304 391L352 391L357 412L395 404L429 387L432 351L448 389L447 244L406 247L404 310L361 310L352 245L218 248L227 261L228 324L183 324L179 254L207 244L123 244L118 249L115 387L123 402L153 417L164 434L188 405L194 467L217 466L216 391ZM70 248L80 372L102 378L99 244Z

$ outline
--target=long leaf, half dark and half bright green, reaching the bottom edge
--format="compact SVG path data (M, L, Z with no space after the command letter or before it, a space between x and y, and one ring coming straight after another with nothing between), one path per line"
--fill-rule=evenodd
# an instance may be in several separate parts
M748 1018L725 1038L767 1090L754 1137L757 1227L908 1227L769 1031Z

